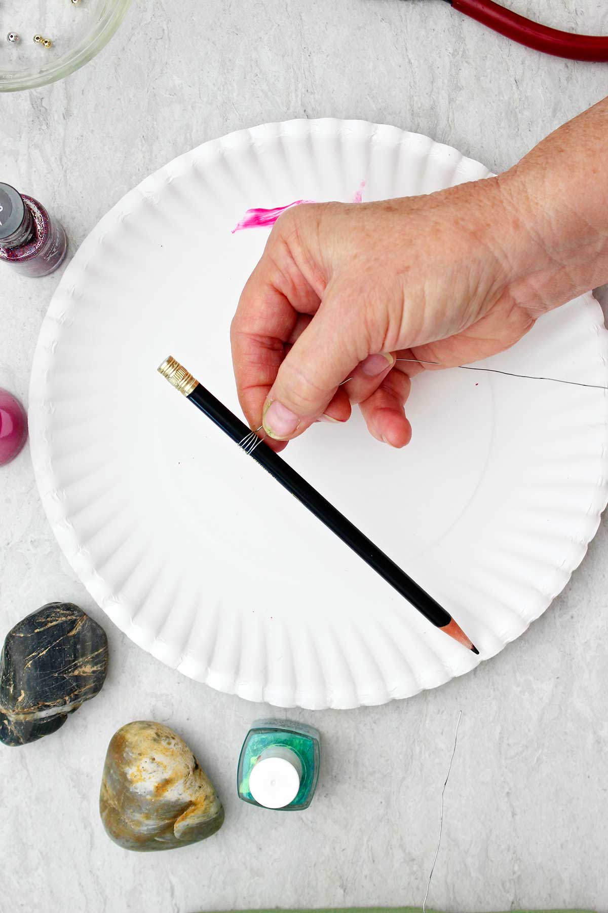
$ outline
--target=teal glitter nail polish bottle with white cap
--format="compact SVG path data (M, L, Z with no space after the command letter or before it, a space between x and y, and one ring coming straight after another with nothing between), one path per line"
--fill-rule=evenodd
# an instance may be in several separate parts
M313 726L259 719L242 745L239 798L261 808L302 811L313 801L320 761L321 737Z

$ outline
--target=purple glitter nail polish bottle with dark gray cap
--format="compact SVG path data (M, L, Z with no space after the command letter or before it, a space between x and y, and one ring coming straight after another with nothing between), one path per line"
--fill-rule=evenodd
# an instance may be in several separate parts
M66 257L66 233L44 206L0 184L0 262L24 276L48 276Z

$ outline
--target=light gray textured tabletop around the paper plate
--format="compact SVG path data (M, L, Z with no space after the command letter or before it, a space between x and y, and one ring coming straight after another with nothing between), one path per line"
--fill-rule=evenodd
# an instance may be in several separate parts
M604 0L509 5L608 33ZM74 250L140 179L226 131L360 117L500 171L607 93L605 66L538 56L438 0L136 0L88 67L0 97L0 173L53 208ZM0 384L24 399L58 278L0 277ZM23 454L0 472L3 635L36 606L71 600L105 624L111 664L101 695L56 735L0 751L0 910L421 903L460 708L431 906L608 910L607 538L604 525L551 610L475 673L382 708L296 714L323 730L317 798L303 814L258 812L237 800L234 771L268 708L181 677L104 619L60 554ZM207 843L140 856L103 833L106 746L132 719L176 729L215 782L226 824Z

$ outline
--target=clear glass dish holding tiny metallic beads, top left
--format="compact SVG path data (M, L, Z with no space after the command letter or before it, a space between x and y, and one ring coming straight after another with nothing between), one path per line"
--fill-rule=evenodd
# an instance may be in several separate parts
M127 15L131 0L58 0L26 5L4 0L0 16L0 91L36 89L63 79L108 44ZM18 40L9 42L14 33ZM45 47L39 35L52 42Z

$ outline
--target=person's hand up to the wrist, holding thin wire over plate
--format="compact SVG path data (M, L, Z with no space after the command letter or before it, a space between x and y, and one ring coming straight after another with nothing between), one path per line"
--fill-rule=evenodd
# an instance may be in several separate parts
M478 361L567 300L546 293L553 260L528 227L530 201L508 173L428 196L287 210L232 320L249 424L279 450L316 420L345 422L356 403L373 436L406 445L410 378L431 366L397 359Z

